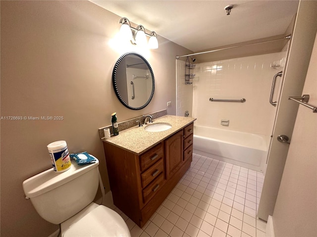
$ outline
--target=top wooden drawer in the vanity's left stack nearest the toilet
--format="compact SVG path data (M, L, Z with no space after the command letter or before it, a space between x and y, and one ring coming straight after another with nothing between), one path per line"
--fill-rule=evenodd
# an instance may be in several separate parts
M160 143L156 147L147 151L140 156L140 168L141 172L149 168L152 164L157 162L160 158L164 158L163 145Z

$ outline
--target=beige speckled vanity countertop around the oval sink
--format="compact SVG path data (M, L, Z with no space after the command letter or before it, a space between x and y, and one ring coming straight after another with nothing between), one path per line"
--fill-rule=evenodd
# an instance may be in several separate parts
M165 115L156 119L153 119L153 123L148 123L142 127L134 126L129 129L119 131L119 135L111 137L109 139L102 139L103 142L114 144L125 150L131 151L137 155L140 155L144 151L158 144L171 134L195 121L196 118L186 118L181 116ZM150 124L165 122L170 123L172 127L168 130L161 132L149 132L144 128Z

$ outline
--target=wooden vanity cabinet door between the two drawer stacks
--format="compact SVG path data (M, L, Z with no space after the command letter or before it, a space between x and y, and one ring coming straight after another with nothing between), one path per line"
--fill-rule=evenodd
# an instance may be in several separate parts
M165 140L166 179L171 177L182 165L183 130Z

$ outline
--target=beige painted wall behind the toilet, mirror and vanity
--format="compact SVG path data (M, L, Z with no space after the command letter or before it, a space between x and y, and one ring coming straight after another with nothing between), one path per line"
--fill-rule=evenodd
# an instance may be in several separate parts
M191 51L159 37L159 49L116 45L120 17L89 1L1 1L1 116L63 116L63 120L1 120L1 236L46 237L57 226L24 199L22 182L51 167L46 146L65 140L70 153L100 160L109 183L98 128L166 109L176 113L175 56ZM159 32L158 32L159 34ZM143 52L155 74L153 100L125 108L112 89L116 60Z

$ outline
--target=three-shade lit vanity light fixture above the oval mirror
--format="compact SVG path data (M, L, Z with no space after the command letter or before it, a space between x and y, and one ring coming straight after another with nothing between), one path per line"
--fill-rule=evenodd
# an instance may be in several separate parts
M132 44L148 45L151 49L159 47L158 35L154 31L148 34L142 25L138 25L134 28L126 17L122 17L119 23L122 24L120 27L120 35L122 38L130 39ZM134 34L132 34L132 31L134 31ZM146 36L150 37L149 42L147 42Z

